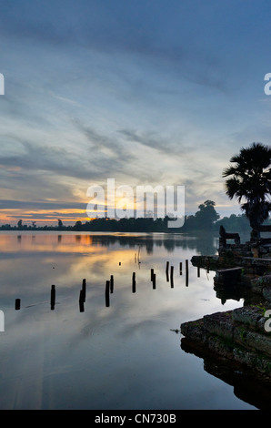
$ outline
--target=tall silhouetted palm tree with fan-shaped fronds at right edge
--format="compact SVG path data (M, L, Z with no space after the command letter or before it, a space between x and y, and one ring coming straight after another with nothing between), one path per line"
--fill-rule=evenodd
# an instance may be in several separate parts
M271 147L253 143L249 148L241 148L233 156L229 166L223 171L226 178L226 195L229 199L236 197L249 219L252 229L258 227L269 217L271 203Z

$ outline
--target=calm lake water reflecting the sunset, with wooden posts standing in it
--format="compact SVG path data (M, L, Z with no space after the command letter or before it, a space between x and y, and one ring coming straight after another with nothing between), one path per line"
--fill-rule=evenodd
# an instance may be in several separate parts
M0 408L256 409L183 350L175 331L182 322L243 306L217 298L215 272L201 270L198 277L190 262L216 248L216 238L178 234L1 232ZM174 283L166 279L166 261Z

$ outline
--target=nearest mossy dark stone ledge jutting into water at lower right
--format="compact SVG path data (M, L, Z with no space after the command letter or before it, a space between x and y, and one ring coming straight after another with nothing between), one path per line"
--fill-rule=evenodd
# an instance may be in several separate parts
M244 307L216 312L181 324L181 333L196 346L245 364L271 380L271 333L264 329L262 311Z

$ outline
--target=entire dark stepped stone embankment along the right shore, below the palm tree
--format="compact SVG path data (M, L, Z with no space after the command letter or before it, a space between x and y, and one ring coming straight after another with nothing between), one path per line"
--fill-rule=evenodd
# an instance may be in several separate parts
M235 283L228 282L221 273L223 263L219 258L194 259L197 265L216 270L215 285L223 288L245 287L249 304L233 311L216 312L202 319L187 321L181 325L182 341L196 351L211 352L217 357L243 365L253 375L271 382L271 259L238 260L241 269ZM226 278L226 283L223 279ZM270 313L268 312L270 310Z

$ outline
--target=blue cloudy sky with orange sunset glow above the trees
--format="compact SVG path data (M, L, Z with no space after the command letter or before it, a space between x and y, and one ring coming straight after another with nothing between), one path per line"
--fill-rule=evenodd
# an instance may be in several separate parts
M268 0L0 3L0 223L88 218L87 189L185 187L241 214L223 169L270 145Z

